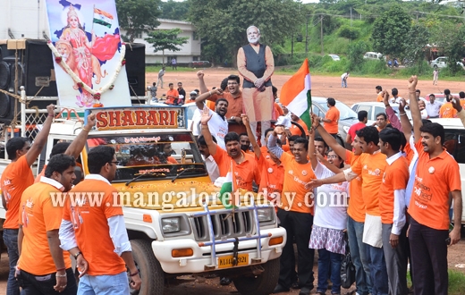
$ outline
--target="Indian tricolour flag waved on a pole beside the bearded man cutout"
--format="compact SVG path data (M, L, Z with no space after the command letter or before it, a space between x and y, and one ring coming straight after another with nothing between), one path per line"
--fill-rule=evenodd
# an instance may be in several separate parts
M300 117L311 128L311 90L309 60L305 59L298 72L284 83L279 102Z

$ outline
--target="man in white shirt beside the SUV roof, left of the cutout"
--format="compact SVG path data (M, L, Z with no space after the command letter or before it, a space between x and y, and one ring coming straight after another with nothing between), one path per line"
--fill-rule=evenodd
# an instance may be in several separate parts
M197 107L199 107L200 112L205 111L207 114L211 115L211 120L208 120L206 125L213 136L216 137L218 141L218 146L222 148L226 148L224 143L224 137L228 133L228 121L226 120L226 114L228 112L228 101L224 98L218 98L215 102L215 112L212 112L205 104L204 101L208 97L212 97L213 95L221 96L223 91L221 89L214 89L211 91L207 91L203 93L199 97L195 99ZM203 126L202 126L203 129Z

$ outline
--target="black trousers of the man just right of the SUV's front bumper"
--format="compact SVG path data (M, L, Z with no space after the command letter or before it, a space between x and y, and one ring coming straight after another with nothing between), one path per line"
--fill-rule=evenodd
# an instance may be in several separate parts
M300 213L286 211L278 208L278 218L281 226L287 232L287 241L280 258L280 271L278 283L284 288L290 288L293 282L292 274L294 273L294 248L292 237L295 237L295 243L298 251L297 258L297 275L299 277L299 286L313 289L313 258L315 250L309 249L311 228L313 225L313 216L309 213Z

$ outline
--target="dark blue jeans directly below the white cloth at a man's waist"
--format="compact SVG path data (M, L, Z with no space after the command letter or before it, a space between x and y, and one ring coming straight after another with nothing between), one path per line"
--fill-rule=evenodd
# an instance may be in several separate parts
M385 262L385 251L366 244L368 263L370 266L370 279L372 282L372 295L387 295L389 285Z

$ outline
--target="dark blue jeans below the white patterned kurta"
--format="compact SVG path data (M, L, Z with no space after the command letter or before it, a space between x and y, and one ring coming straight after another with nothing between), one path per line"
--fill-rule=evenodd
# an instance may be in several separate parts
M325 292L328 288L328 273L331 267L331 293L341 292L341 260L342 255L326 249L318 249L318 286L317 291Z

